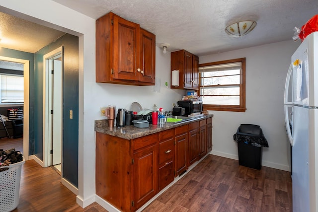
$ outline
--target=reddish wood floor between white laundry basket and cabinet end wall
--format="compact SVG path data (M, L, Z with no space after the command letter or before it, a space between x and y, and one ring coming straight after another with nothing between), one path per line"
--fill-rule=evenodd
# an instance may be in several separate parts
M34 160L22 165L20 198L13 212L107 212L97 203L82 209L76 195L61 183L51 167L42 168Z

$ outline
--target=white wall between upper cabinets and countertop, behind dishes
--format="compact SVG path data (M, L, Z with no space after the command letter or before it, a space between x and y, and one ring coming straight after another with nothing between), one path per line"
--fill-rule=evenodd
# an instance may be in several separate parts
M118 108L130 109L133 102L138 102L143 108L152 109L156 104L158 108L171 110L172 103L180 100L184 95L184 90L170 89L170 52L162 53L162 49L156 47L156 79L160 79L160 91L154 91L155 86L132 86L118 85L109 83L95 83L95 74L90 76L95 84L95 93L98 95L99 101L96 105L92 105L95 119L104 119L99 116L99 107L107 105L116 105ZM165 86L168 82L168 87ZM157 83L156 83L157 85Z

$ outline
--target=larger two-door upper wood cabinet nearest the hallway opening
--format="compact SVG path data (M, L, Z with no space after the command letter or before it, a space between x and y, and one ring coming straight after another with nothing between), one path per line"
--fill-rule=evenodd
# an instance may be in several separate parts
M96 82L154 85L156 35L109 12L96 20Z

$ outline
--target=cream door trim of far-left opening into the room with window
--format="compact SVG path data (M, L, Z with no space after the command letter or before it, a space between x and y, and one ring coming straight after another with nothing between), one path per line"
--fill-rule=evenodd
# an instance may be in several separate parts
M30 101L30 61L0 56L2 61L23 64L24 100L23 100L23 157L29 159L29 101ZM27 153L25 153L27 152Z

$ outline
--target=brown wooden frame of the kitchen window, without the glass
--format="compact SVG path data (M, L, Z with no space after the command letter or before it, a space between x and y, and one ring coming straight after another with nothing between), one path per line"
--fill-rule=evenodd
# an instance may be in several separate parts
M199 64L199 68L207 67L207 66L215 66L215 65L223 65L229 63L238 63L241 62L241 70L240 70L240 83L239 83L239 105L213 105L213 104L203 104L203 110L216 110L216 111L234 111L234 112L245 112L246 105L246 58L238 58L232 60L218 61L212 63ZM200 95L201 90L201 73L199 73L199 90L198 94Z

